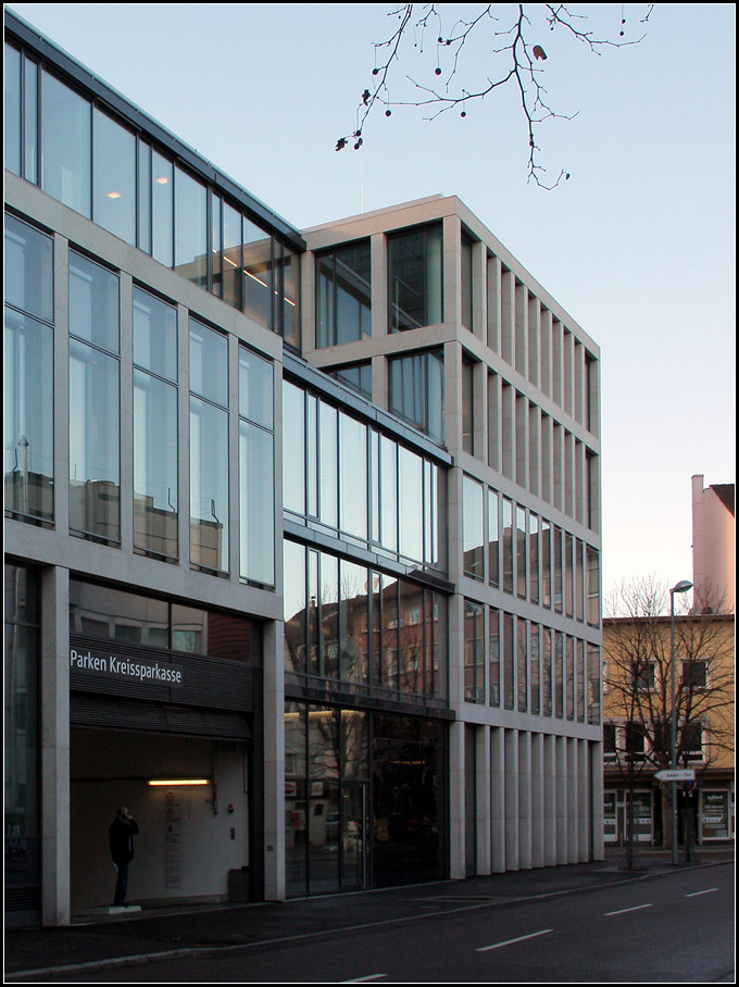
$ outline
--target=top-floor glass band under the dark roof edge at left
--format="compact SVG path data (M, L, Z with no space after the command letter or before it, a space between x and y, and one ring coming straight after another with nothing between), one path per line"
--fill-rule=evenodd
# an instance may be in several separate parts
M300 346L299 253L8 43L5 166Z

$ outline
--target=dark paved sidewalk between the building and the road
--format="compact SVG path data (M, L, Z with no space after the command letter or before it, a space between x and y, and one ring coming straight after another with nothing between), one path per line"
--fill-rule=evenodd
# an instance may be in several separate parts
M734 861L734 847L700 847L690 863L705 867ZM399 919L413 920L468 904L511 908L530 898L577 894L623 880L675 873L669 851L639 848L641 871L622 870L624 850L608 848L603 861L444 880L389 890L239 905L143 909L105 917L74 919L65 928L5 929L5 982L24 976L63 978L142 960L191 955ZM123 971L122 971L123 974ZM124 975L125 978L125 975Z

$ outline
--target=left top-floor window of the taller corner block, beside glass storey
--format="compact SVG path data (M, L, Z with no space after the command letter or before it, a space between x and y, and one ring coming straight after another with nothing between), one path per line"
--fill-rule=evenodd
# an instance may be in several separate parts
M369 241L321 254L315 264L316 347L340 346L369 336Z

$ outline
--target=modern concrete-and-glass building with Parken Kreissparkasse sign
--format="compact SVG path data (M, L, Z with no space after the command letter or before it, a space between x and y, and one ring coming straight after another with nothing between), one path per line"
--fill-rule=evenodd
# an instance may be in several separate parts
M298 230L5 11L5 914L602 855L599 349L456 198Z

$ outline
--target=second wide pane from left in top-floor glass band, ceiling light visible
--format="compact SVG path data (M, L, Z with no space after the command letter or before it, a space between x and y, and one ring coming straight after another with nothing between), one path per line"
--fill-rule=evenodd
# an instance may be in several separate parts
M95 110L92 218L128 243L136 243L136 138Z

